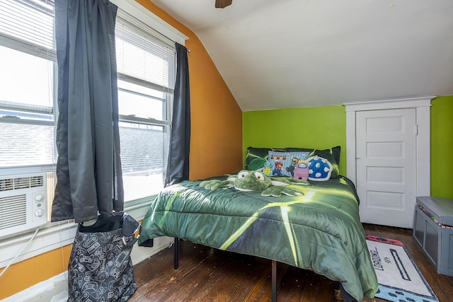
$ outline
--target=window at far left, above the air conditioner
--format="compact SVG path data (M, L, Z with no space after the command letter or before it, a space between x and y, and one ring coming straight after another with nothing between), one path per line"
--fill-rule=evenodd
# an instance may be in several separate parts
M0 66L0 168L55 164L56 50L49 1L0 2Z

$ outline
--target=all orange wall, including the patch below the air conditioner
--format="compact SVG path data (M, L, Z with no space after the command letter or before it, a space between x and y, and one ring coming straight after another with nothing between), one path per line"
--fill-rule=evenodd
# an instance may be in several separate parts
M137 2L189 37L185 47L190 50L190 179L240 170L242 112L205 47L194 33L150 1ZM0 299L64 272L70 252L68 245L11 265L0 277Z

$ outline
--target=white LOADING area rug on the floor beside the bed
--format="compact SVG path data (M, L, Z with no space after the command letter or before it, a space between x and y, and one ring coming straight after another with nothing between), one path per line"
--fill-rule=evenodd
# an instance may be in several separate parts
M439 301L403 243L369 235L366 239L379 282L377 298L394 302Z

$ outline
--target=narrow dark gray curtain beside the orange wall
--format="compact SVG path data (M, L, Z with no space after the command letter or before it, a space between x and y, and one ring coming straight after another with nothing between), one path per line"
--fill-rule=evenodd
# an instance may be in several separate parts
M187 48L176 43L176 83L165 186L189 179L190 89Z

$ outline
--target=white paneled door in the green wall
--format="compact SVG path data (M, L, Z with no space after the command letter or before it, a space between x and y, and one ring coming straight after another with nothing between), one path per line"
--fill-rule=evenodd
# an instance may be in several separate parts
M413 227L415 109L356 112L357 194L365 223Z

